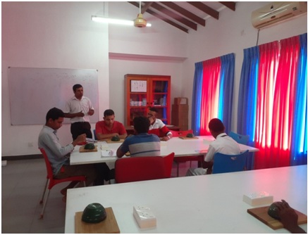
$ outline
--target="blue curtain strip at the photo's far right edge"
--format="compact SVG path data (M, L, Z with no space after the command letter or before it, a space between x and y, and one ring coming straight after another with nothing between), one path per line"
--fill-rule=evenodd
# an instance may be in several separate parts
M307 164L307 34L300 35L296 94L290 165L303 165Z

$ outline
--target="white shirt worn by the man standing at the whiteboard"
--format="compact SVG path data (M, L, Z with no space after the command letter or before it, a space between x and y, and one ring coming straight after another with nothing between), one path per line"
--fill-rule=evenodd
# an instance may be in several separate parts
M85 113L83 117L70 118L70 122L90 122L89 115L87 115L90 109L94 110L89 98L82 96L82 98L79 100L75 96L73 96L66 102L66 107L64 108L63 112L79 113L80 111L82 111L82 113Z

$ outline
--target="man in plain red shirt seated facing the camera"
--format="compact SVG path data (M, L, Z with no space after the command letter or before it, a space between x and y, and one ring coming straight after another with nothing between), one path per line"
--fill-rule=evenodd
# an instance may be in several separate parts
M125 139L128 136L125 127L121 122L114 120L114 112L111 109L104 111L104 121L99 121L95 125L97 139L111 139L113 136L119 136Z

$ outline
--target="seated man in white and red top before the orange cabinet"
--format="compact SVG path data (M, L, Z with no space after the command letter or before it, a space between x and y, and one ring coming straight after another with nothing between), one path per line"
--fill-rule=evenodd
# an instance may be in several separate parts
M156 118L158 110L156 108L149 108L147 113L147 118L149 118L149 134L156 134L161 137L161 140L168 141L172 138L172 133L169 131L168 127L160 119Z

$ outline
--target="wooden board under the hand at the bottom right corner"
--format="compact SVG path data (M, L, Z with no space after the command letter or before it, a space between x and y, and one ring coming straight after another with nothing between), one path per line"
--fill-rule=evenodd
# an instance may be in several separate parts
M269 216L267 211L269 210L269 206L263 206L261 208L252 208L248 209L247 212L250 215L256 217L258 220L263 222L264 224L271 227L271 229L282 229L283 224L279 220L275 220L273 217ZM307 224L307 215L304 215L302 212L295 210L298 215L297 224Z

